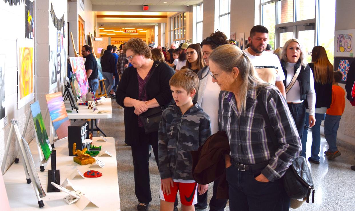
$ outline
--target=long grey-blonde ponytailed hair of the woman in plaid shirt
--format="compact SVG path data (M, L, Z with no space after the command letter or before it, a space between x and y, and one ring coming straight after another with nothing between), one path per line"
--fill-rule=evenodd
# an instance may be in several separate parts
M220 70L228 73L232 71L233 67L239 69L241 78L241 86L239 87L241 112L245 112L248 90L266 85L256 73L249 57L235 45L221 45L212 51L208 60L215 63Z

